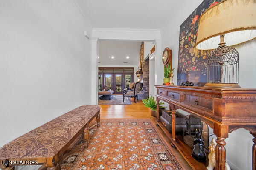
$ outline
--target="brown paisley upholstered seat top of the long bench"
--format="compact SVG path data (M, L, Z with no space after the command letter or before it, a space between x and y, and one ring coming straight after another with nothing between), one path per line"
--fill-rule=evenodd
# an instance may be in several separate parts
M0 148L0 159L53 157L100 110L80 106Z

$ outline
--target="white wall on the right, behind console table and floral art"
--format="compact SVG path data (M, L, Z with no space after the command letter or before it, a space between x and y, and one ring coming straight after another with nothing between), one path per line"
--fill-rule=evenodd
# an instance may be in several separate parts
M180 24L199 6L202 0L185 0L174 9L172 17L161 29L162 34L162 51L165 47L172 49L172 68L174 70L174 83L177 85L177 63L179 50L179 30ZM239 85L243 88L256 87L256 41L247 42L244 45L236 46L239 51ZM162 68L156 68L162 69ZM242 113L241 113L242 114ZM233 170L250 170L252 169L252 136L249 131L239 129L229 133L227 142L227 161Z

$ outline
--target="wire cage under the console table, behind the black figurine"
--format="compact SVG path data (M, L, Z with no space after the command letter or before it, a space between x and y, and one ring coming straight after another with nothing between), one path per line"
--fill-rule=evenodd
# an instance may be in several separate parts
M204 139L205 152L208 152L209 145L209 127L201 119L193 115L187 115L185 119L186 127L183 128L183 140L189 147L193 147L194 139L196 138L195 132L199 130Z

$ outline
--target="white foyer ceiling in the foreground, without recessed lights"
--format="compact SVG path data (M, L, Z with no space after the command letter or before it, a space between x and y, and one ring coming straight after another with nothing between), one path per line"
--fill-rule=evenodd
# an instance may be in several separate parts
M179 0L77 0L94 28L160 29Z

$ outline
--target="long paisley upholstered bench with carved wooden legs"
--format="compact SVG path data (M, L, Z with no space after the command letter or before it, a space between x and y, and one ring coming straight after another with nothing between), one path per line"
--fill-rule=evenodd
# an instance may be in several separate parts
M0 168L13 170L16 165L42 164L41 169L60 169L67 150L77 139L84 139L76 150L88 146L89 123L96 117L100 125L99 106L80 106L20 136L0 148ZM22 161L22 164L20 162ZM24 163L24 164L23 164Z

